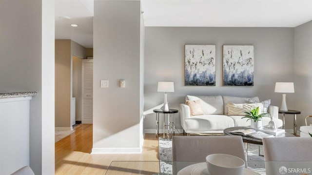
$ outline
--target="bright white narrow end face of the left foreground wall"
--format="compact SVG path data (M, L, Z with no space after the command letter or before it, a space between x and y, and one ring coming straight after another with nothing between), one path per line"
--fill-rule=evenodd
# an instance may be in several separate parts
M55 17L54 17L54 0L42 0L42 157L41 157L41 174L42 175L54 175L55 174L55 82L54 82L54 68L55 68L55 56L54 56L54 34L55 34ZM33 133L31 133L32 135ZM36 146L31 143L36 151ZM31 153L36 155L36 152ZM40 160L40 159L39 159ZM37 165L38 164L38 165ZM31 165L38 167L40 164L38 160L32 159ZM37 168L38 169L38 168ZM36 174L40 175L40 174Z

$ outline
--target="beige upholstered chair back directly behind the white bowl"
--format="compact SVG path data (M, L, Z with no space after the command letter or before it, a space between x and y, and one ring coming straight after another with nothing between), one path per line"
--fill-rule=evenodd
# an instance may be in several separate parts
M241 136L173 136L173 174L188 165L205 162L206 156L216 153L237 156L246 162Z

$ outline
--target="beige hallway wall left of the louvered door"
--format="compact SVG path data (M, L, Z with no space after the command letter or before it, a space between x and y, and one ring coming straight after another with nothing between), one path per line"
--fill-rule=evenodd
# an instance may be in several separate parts
M55 40L55 127L71 127L70 109L71 97L73 97L73 57L87 58L86 52L87 49L85 47L73 40ZM81 84L79 86L77 87L78 89L81 88ZM76 99L76 111L78 112L76 116L80 116L81 120L81 93L75 95L79 95Z

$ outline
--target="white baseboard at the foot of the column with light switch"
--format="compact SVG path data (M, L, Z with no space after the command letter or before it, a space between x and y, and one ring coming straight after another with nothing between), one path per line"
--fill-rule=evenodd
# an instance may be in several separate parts
M92 148L91 154L141 154L141 148Z

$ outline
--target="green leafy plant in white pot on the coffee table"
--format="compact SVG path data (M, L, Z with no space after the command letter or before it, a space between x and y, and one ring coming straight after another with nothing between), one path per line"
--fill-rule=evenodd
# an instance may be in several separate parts
M262 122L261 118L270 115L269 113L262 113L259 114L259 106L252 109L249 112L244 112L246 115L242 118L248 118L248 120L251 120L251 128L261 128Z

